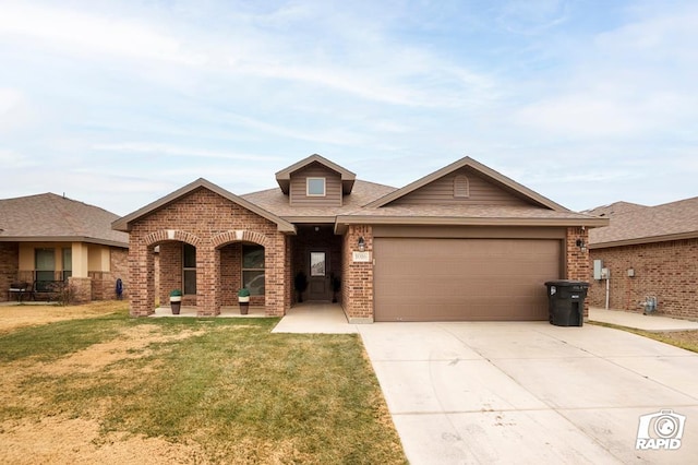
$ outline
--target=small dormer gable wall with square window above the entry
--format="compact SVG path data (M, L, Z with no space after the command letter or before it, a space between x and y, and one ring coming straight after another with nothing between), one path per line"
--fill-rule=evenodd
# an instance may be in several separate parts
M309 192L309 179L315 186L324 186L323 194ZM292 206L341 206L341 176L313 162L290 176L289 202Z

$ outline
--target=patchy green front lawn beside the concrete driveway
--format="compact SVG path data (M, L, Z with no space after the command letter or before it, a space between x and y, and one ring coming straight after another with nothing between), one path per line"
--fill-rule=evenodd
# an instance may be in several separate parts
M58 362L136 326L195 334L160 338L96 371L27 369L20 398L0 394L0 422L91 418L105 436L194 441L214 463L406 463L358 336L270 334L277 321L119 313L0 335L4 370Z

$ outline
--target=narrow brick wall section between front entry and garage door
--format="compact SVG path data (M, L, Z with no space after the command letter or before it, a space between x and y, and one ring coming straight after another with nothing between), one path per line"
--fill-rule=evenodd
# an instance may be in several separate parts
M344 236L344 265L341 299L350 322L373 322L373 261L352 261L352 252L358 251L359 238L363 236L365 250L373 258L373 228L371 226L349 226Z

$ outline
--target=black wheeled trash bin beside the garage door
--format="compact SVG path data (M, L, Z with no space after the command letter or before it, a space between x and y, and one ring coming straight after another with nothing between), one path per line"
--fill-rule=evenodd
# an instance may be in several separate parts
M585 320L585 298L589 283L583 281L549 281L547 310L551 324L581 326Z

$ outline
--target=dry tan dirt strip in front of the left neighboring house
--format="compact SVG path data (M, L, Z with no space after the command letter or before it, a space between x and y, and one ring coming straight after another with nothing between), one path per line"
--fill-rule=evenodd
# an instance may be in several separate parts
M94 318L128 308L124 301L93 302L88 306L58 305L2 305L0 306L0 333L17 327L37 326L55 321Z

